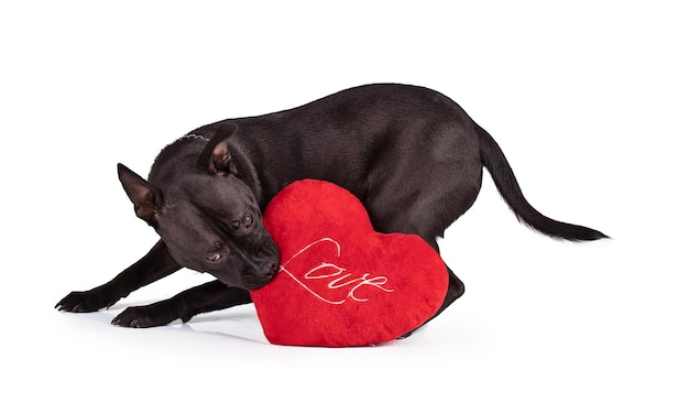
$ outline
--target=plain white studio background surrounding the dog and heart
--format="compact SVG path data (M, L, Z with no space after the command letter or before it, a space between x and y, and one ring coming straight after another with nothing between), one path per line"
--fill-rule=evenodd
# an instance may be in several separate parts
M689 401L681 1L12 3L0 6L0 400ZM448 95L534 206L614 240L532 232L486 175L441 243L467 294L404 341L271 346L251 307L109 325L208 280L188 271L109 311L53 309L156 239L118 162L145 175L198 126L374 81Z

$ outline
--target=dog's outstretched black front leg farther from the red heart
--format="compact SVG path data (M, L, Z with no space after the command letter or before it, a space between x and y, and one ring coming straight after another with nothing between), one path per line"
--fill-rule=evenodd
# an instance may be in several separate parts
M118 274L106 284L89 291L74 291L62 298L55 307L67 312L95 312L109 307L134 290L160 280L182 269L167 251L167 246L158 241L136 263Z

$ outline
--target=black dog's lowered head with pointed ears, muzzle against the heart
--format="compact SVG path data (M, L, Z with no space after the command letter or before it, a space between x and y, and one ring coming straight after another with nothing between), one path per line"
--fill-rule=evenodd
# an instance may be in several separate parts
M273 280L280 253L254 190L237 175L227 142L236 130L218 130L193 164L156 161L165 166L155 175L152 170L151 182L122 164L118 174L136 216L155 229L177 263L255 290Z

